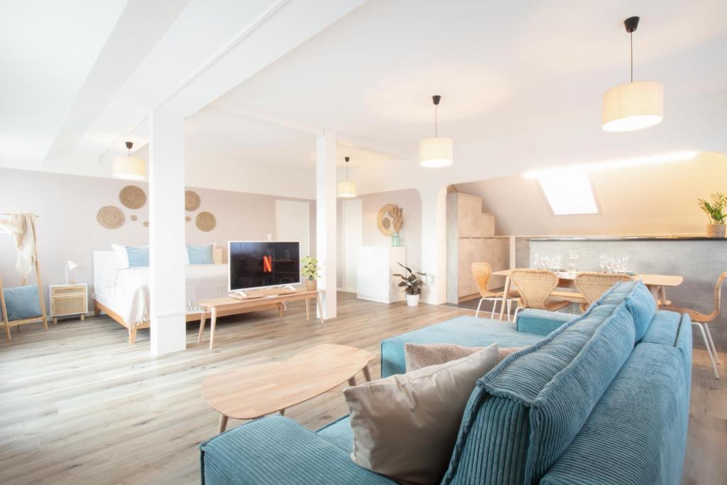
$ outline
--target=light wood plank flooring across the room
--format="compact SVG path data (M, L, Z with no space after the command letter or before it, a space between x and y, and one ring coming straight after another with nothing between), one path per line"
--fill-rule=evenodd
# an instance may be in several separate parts
M47 332L40 325L14 329L12 342L0 341L0 483L198 484L198 445L214 436L218 418L201 397L204 376L326 342L378 354L385 337L472 313L342 293L339 317L324 325L306 321L297 302L285 318L276 310L222 318L212 351L209 331L198 345L198 327L188 324L188 350L161 357L150 356L148 330L129 346L125 329L106 317L61 321ZM727 332L720 330L716 344L725 349ZM708 364L696 344L686 484L727 476L727 364L721 380ZM378 360L371 374L379 376ZM343 387L286 416L315 429L346 414Z

